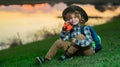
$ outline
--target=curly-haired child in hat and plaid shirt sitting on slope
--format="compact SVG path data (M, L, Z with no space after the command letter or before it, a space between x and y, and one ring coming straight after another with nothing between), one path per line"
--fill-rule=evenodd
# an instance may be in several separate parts
M62 17L65 20L65 24L62 28L60 39L56 40L51 46L45 58L36 57L36 62L41 64L45 61L49 61L56 54L58 49L63 49L64 56L59 59L64 60L74 55L93 55L94 49L91 45L93 39L89 28L84 27L84 35L81 34L81 27L88 21L88 15L79 6L69 6L63 13ZM71 42L68 40L71 39Z

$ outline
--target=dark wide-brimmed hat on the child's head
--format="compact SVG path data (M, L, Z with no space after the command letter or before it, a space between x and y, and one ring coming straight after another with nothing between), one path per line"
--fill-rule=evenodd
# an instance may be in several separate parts
M71 5L63 10L62 17L63 17L64 21L66 21L66 19L65 19L66 14L69 12L74 12L74 11L79 11L80 15L84 18L85 22L88 21L87 13L81 7L75 6L75 5Z

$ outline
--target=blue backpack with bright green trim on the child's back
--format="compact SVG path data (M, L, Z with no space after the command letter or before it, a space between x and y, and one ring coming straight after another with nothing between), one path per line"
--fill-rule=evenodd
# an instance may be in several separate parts
M82 28L81 28L81 33L84 35L84 27L86 25L84 25ZM90 29L90 32L91 32L91 36L93 38L93 42L92 42L92 46L93 48L95 49L95 52L98 52L102 49L102 46L101 46L101 38L100 36L95 32L94 28L91 27L91 26L88 26L89 29Z

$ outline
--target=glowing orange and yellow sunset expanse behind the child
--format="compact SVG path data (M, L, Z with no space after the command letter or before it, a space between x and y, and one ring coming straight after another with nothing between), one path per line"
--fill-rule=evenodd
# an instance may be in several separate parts
M120 7L116 10L106 10L100 12L95 9L94 5L77 4L81 6L89 16L99 16L104 18L112 18L120 14ZM56 28L60 23L63 24L61 16L62 11L67 7L64 3L57 3L51 6L48 3L43 4L24 4L24 5L0 5L0 42L16 36L19 32L21 38L27 42L26 36L30 32L46 28ZM109 19L89 19L89 25L103 24ZM61 28L60 28L61 29Z

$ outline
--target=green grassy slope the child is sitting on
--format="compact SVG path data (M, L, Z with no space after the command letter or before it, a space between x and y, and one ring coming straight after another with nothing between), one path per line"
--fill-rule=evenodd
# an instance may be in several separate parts
M0 67L119 67L120 66L120 20L95 26L102 37L103 49L93 56L73 57L65 61L57 61L63 54L59 51L52 61L37 65L36 56L44 56L58 36L32 42L23 46L0 51Z

